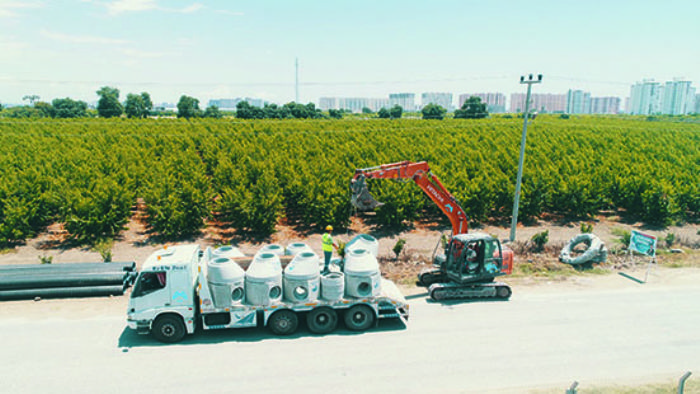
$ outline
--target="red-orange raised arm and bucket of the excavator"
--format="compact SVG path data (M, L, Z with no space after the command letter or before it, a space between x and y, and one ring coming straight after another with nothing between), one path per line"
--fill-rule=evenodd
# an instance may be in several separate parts
M353 206L363 211L383 205L369 194L366 179L412 179L450 219L453 236L467 233L467 214L457 199L433 175L427 162L402 161L355 170L350 184L352 189L350 201Z

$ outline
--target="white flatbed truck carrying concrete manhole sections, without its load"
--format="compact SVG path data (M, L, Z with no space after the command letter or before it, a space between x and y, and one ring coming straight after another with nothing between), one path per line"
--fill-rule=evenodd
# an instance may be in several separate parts
M174 343L199 326L204 330L268 327L277 335L290 335L305 318L315 334L330 333L342 318L346 328L364 331L379 319L408 320L409 305L396 285L382 279L376 297L349 298L329 302L297 303L282 298L273 305L243 302L217 308L206 280L207 264L198 245L160 249L144 262L129 298L127 324L140 334Z

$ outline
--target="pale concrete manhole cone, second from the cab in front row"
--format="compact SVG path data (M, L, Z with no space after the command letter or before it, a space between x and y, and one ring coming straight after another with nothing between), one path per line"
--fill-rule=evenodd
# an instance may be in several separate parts
M282 264L278 255L255 255L245 273L245 295L253 305L271 305L282 299Z

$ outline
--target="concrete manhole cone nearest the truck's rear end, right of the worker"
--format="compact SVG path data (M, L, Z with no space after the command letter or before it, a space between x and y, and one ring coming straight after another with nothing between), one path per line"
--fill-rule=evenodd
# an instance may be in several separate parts
M377 258L367 249L345 252L345 294L348 297L376 297L381 293Z

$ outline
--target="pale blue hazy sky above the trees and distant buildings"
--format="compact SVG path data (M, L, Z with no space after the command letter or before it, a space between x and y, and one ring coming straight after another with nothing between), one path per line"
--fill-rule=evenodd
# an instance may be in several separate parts
M697 0L0 0L0 103L101 86L275 103L700 85ZM698 89L700 90L700 89Z

